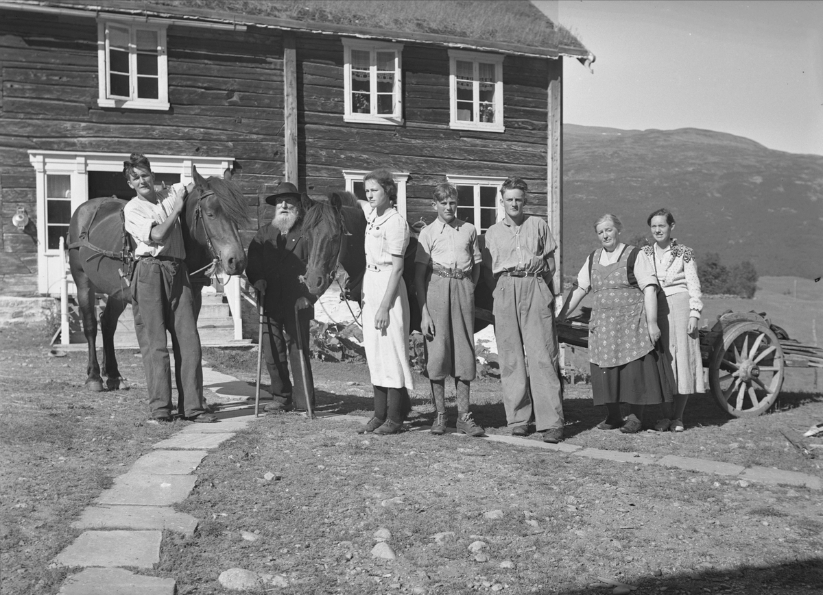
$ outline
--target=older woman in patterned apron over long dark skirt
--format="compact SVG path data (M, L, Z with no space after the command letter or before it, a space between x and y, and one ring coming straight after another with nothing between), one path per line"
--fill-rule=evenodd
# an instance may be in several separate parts
M592 393L595 406L605 405L608 412L597 428L635 434L643 426L646 405L672 400L672 372L658 344L654 266L644 251L620 241L622 228L613 214L597 219L594 229L602 247L586 259L557 318L564 320L593 293L588 324ZM630 407L625 419L621 403Z

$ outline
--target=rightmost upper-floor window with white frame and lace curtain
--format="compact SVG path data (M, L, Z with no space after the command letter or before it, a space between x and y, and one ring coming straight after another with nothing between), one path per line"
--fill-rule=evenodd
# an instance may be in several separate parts
M503 56L449 50L450 126L502 132Z

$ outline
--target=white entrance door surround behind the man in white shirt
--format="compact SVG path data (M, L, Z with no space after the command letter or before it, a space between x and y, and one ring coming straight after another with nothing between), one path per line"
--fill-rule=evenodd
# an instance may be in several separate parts
M60 256L60 251L48 248L46 226L46 176L68 175L71 177L72 214L86 202L89 172L122 172L123 161L128 153L93 153L74 151L30 150L29 161L35 168L36 224L38 245L38 292L44 295L60 295L53 275L49 274L49 261ZM146 155L154 173L179 173L180 182L192 181L192 165L196 165L203 178L222 177L226 168L234 162L232 157L193 157L190 155ZM75 291L71 290L72 293Z

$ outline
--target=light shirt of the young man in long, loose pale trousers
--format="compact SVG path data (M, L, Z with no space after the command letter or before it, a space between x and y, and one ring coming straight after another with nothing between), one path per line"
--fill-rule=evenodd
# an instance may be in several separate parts
M526 215L523 224L498 221L486 232L483 264L498 274L504 270L524 270L527 273L546 273L546 257L556 250L546 219Z

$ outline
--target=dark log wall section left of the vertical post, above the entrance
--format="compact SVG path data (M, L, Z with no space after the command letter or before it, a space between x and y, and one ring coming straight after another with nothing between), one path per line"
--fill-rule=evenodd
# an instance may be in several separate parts
M167 43L168 112L98 108L95 19L0 10L0 294L36 291L37 246L12 225L36 216L30 149L232 156L257 216L283 173L280 36L171 25Z

